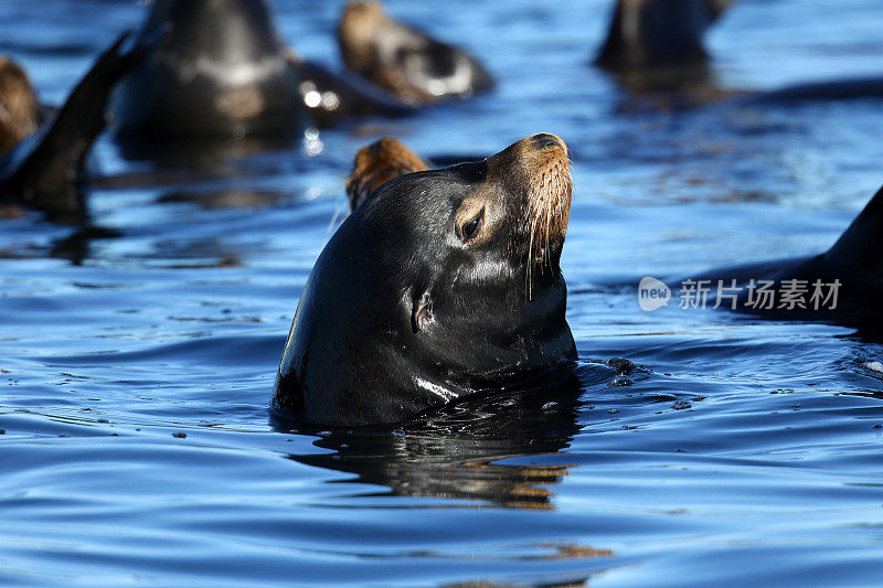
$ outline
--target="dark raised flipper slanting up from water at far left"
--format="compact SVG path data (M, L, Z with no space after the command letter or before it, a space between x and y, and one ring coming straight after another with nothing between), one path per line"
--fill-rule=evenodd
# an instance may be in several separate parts
M120 51L129 33L98 57L74 87L53 120L0 159L0 201L45 211L55 216L83 213L82 170L86 153L104 129L114 84L156 41L156 32Z

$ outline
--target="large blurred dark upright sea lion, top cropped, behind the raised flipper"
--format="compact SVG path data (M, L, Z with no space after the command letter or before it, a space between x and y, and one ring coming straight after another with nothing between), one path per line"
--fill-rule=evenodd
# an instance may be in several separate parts
M158 0L142 35L166 29L115 96L118 136L295 135L297 74L264 0Z

